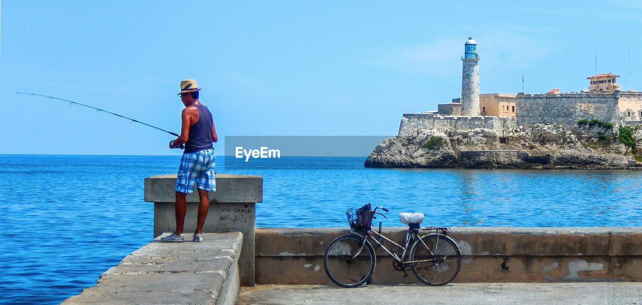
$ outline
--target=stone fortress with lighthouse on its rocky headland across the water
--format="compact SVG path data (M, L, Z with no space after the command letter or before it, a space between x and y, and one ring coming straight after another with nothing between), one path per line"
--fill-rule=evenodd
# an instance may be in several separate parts
M365 166L642 167L636 145L618 141L619 128L626 126L642 147L642 92L621 91L620 76L590 76L588 89L580 92L480 94L473 37L466 40L461 59L461 97L436 111L404 114L397 137L374 148ZM582 120L593 122L578 125ZM431 136L445 143L426 146Z

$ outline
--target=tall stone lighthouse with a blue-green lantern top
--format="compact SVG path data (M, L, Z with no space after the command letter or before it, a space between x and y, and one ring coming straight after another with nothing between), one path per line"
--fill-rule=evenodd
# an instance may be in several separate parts
M479 61L477 42L473 37L468 37L464 44L464 56L462 56L462 116L480 115Z

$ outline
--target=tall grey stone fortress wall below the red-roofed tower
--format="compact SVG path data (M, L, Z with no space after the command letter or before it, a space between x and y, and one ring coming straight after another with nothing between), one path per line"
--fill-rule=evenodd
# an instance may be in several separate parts
M560 123L571 127L580 119L620 124L618 93L519 94L517 124Z

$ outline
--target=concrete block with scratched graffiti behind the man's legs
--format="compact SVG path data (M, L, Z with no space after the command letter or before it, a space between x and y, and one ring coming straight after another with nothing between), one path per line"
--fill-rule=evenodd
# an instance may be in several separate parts
M154 238L163 232L174 232L176 175L159 175L145 179L145 201L154 203ZM243 247L239 256L241 285L254 286L255 205L263 202L263 177L216 174L216 191L209 193L209 212L204 233L241 232ZM196 229L198 194L187 194L185 238L191 240Z

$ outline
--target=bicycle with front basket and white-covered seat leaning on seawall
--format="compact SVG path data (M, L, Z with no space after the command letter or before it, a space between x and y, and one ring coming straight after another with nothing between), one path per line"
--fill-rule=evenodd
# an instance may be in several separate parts
M405 245L401 246L381 234L381 222L379 222L379 232L372 230L372 219L376 219L375 214L388 218L378 213L377 209L386 212L388 209L384 207L370 209L371 205L367 204L360 209L349 209L345 213L351 234L334 239L325 250L323 258L325 273L331 281L345 288L358 287L368 282L376 266L376 255L371 242L394 259L392 265L395 270L405 273L410 267L417 279L424 284L443 286L455 279L462 263L462 253L457 243L446 236L451 232L450 228L422 228L420 224L424 214L401 213L399 214L401 222L408 225ZM420 237L420 231L434 232ZM388 250L381 243L382 238L400 248L401 256L398 256L395 250ZM406 259L406 253L408 259Z

